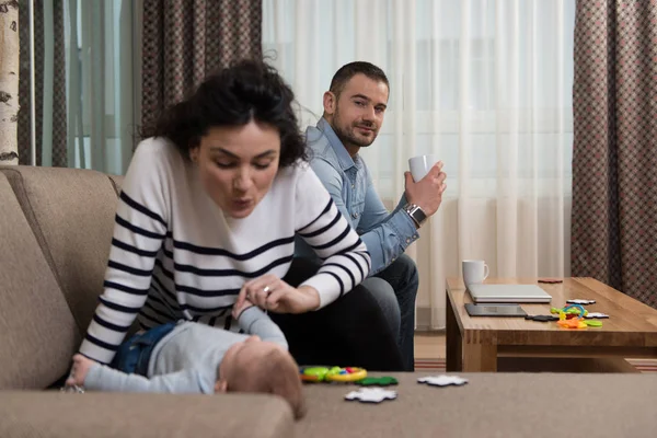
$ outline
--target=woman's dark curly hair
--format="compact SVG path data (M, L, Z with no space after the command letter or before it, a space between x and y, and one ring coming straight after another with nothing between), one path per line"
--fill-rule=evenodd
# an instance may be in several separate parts
M308 160L306 143L292 108L295 93L274 67L241 60L209 76L188 99L166 108L142 137L165 137L183 157L212 127L246 125L252 119L280 134L279 166Z

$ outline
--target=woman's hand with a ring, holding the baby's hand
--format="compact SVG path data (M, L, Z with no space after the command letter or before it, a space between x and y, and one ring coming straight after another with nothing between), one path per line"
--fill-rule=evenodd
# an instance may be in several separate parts
M276 313L304 313L320 307L320 295L314 288L293 288L273 274L245 283L234 307L239 308L246 300Z

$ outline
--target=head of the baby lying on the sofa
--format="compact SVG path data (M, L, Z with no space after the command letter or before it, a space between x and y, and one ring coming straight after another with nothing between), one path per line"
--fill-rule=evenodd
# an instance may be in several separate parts
M306 415L299 366L278 344L257 336L232 345L217 369L216 392L265 392L283 396L296 418Z

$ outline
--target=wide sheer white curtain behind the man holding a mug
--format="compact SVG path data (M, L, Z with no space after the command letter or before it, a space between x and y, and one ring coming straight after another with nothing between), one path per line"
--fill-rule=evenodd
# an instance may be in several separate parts
M569 274L575 0L264 0L263 15L303 127L342 65L387 72L385 122L361 152L389 206L410 157L445 162L442 205L408 250L418 327L445 327L445 280L464 258L494 277Z

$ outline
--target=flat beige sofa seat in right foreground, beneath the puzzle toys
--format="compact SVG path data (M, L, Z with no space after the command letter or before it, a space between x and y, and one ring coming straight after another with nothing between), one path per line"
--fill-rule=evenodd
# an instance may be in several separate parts
M461 373L469 382L447 388L418 383L427 372L387 376L397 397L381 404L345 401L356 385L307 384L296 436L615 438L657 428L655 374Z

